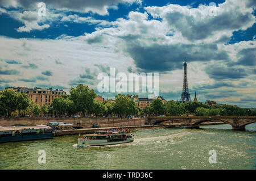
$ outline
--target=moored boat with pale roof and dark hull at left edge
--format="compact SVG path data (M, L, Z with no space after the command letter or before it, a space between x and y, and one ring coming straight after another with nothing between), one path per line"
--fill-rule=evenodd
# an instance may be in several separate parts
M0 127L0 143L47 138L53 138L53 132L51 127L45 125L35 127Z

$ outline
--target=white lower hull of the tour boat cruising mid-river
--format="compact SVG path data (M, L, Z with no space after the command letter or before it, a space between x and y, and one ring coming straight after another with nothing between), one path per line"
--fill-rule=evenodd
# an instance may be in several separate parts
M108 140L78 140L77 147L83 148L87 146L105 146L105 145L116 145L116 144L126 144L133 142L133 138L127 138L122 141L108 141Z

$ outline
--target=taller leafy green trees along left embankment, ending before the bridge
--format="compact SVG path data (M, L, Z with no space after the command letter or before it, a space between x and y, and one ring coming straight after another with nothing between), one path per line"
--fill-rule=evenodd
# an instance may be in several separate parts
M5 90L0 92L0 116L13 115L54 115L54 116L113 116L137 115L138 108L132 99L125 95L115 96L115 102L96 100L93 89L82 84L71 87L70 95L61 95L52 100L51 105L39 106L28 98L27 94Z

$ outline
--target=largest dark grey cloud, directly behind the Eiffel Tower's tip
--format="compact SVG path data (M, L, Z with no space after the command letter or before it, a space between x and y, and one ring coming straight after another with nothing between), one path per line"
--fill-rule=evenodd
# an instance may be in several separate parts
M183 68L187 61L229 60L224 50L216 44L171 44L139 45L137 41L127 41L125 51L134 59L138 68L148 71L170 71Z

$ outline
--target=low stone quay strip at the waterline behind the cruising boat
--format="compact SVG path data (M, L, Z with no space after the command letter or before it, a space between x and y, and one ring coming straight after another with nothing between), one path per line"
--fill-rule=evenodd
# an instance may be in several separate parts
M141 126L127 126L127 127L104 127L104 128L82 128L82 129L67 129L56 130L54 136L65 136L73 134L92 134L96 131L105 129L152 129L152 128L165 128L164 125L141 125Z

